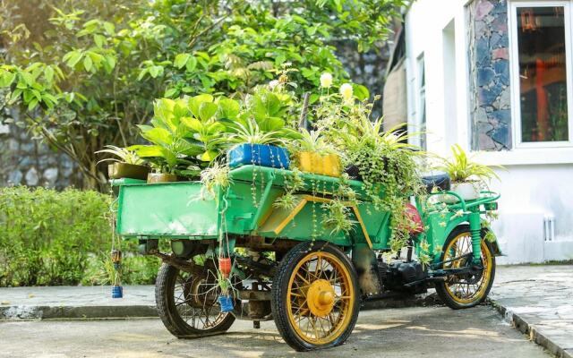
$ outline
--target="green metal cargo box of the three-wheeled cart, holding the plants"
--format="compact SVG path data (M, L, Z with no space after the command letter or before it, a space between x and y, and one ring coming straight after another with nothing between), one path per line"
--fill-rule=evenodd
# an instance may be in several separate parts
M117 233L124 237L201 239L216 238L223 231L301 241L310 240L314 235L345 246L351 244L351 237L357 242L365 242L358 224L355 232L349 235L330 233L322 225L328 213L321 203L312 202L308 202L279 234L258 232L272 212L273 202L284 193L283 186L290 173L262 166L236 168L231 171L231 185L225 192L217 193L217 200L201 199L201 183L198 182L114 182L120 187ZM338 178L328 176L304 174L303 179L303 192L321 198L328 197L339 185ZM351 181L350 185L359 196L364 196L361 182ZM374 248L386 248L388 213L374 210L367 200L363 200L358 210Z

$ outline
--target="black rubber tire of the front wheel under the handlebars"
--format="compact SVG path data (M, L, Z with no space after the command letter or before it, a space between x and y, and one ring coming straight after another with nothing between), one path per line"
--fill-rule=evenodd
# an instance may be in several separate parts
M445 248L448 247L449 243L452 240L454 240L456 237L458 237L458 235L460 235L460 234L471 235L470 230L469 230L469 225L466 225L466 224L460 225L451 231L451 233L448 235L448 238L446 239L446 242L443 245L444 251L441 252L440 261L443 261L445 255L446 255ZM486 231L482 230L481 235L482 235L483 241L484 241L485 234L486 234ZM438 294L438 296L440 297L441 302L444 303L445 305L447 305L452 310L461 310L461 309L465 309L465 308L471 308L471 307L477 306L478 304L483 303L485 301L485 299L487 298L487 295L490 293L490 290L492 289L493 280L495 279L495 255L493 253L494 251L492 248L492 244L488 243L487 241L484 241L484 243L485 243L485 246L487 247L487 250L489 250L490 254L492 255L492 275L490 278L490 282L488 282L488 284L485 288L485 292L484 292L482 297L480 297L478 300L473 301L472 303L458 303L458 302L454 301L454 299L448 293L448 290L446 289L446 283L445 282L438 281L435 283L436 294Z

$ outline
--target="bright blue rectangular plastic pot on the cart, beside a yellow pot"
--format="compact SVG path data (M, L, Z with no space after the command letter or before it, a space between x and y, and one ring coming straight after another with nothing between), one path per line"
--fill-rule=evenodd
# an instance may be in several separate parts
M290 159L284 148L269 144L240 144L227 153L230 167L255 165L288 169Z

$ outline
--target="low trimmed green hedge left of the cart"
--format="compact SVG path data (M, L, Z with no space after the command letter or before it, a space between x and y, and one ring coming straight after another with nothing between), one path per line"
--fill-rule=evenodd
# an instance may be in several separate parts
M0 188L0 286L109 284L111 197L24 186ZM124 244L124 284L151 284L159 262Z

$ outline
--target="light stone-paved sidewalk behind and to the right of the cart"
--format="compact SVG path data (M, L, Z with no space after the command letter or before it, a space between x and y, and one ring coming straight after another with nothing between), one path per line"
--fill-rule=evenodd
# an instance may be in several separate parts
M573 266L498 267L490 295L509 323L558 357L573 357ZM367 308L432 305L432 296L368 303ZM453 314L453 311L451 311ZM156 317L153 286L0 288L1 319Z

